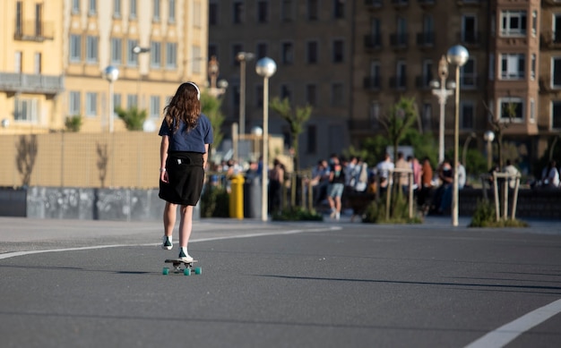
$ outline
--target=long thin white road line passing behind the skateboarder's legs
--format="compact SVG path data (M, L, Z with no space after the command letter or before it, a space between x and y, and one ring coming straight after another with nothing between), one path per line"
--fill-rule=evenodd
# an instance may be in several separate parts
M296 233L306 233L306 232L322 232L322 231L337 231L341 230L341 227L332 226L329 228L311 228L307 230L289 230L289 231L279 231L279 232L262 232L262 233L246 233L246 234L238 234L238 235L225 235L220 237L209 237L209 238L200 238L200 239L193 239L189 241L192 242L211 242L211 241L220 241L225 239L240 239L240 238L254 238L254 237L263 237L266 235L282 235L282 234L296 234ZM13 251L13 252L6 252L4 254L0 254L0 259L10 259L16 256L25 256L25 255L32 255L32 254L41 254L44 252L64 252L64 251L77 251L77 250L95 250L95 249L105 249L105 248L125 248L125 247L147 247L147 246L154 246L160 244L148 243L148 244L113 244L113 245L95 245L91 247L78 247L78 248L64 248L64 249L47 249L47 250L28 250L28 251Z

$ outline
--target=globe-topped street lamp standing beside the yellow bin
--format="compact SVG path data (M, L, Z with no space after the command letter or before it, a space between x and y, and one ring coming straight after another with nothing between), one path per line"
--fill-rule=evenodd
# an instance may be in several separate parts
M267 221L267 204L269 202L268 154L269 154L269 78L277 72L277 64L269 57L263 57L255 64L255 72L263 77L263 169L261 171L261 219Z

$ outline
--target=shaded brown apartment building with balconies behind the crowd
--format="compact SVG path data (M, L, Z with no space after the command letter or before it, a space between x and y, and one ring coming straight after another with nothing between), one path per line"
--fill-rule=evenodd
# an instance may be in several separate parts
M272 57L278 71L271 98L314 106L300 140L304 166L383 134L380 117L401 96L415 98L419 131L436 136L440 113L430 82L458 44L470 52L460 70L461 145L470 138L470 147L484 150L483 133L496 119L530 166L561 124L556 0L211 0L209 15L210 55L219 57L232 87L227 123L239 120L237 53ZM455 66L448 70L447 81L454 81ZM248 130L262 122L262 82L253 69L246 73ZM451 96L444 108L447 150L454 110ZM270 132L286 134L286 127L276 119Z

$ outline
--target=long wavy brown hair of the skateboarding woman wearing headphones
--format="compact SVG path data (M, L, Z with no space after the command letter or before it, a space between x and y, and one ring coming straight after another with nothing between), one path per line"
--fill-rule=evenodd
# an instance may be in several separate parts
M176 95L169 100L168 106L164 107L166 123L171 127L175 121L173 132L179 129L179 121L186 123L186 132L194 129L201 115L201 102L199 101L199 90L193 82L184 82L177 88Z

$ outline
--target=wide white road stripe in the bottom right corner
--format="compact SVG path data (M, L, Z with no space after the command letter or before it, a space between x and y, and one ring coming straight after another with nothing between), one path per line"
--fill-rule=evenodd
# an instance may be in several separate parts
M561 300L553 301L546 306L496 328L487 335L465 346L465 348L499 348L514 341L516 337L536 327L544 321L561 313Z

